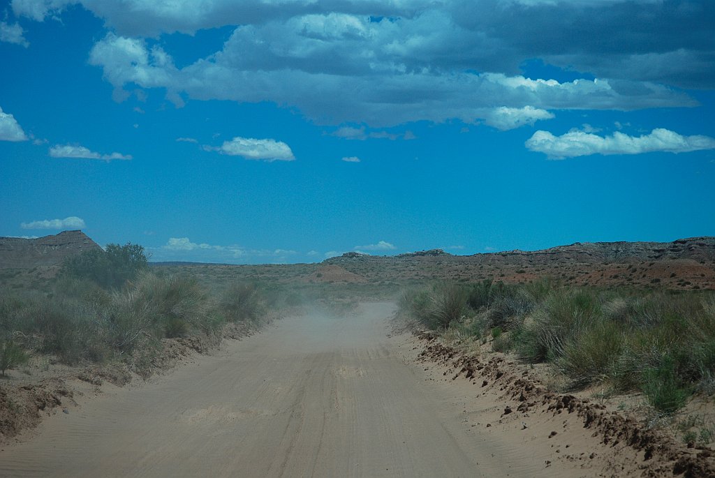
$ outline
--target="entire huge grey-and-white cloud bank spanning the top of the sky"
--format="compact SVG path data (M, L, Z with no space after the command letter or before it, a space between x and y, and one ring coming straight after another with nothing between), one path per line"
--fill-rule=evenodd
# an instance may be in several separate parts
M695 106L671 86L715 86L715 43L703 41L712 37L712 2L14 0L13 9L41 20L75 3L112 31L89 62L118 100L139 86L179 106L272 101L318 124L458 119L511 129L559 109ZM238 26L219 51L181 68L157 40L227 25ZM589 75L528 78L529 59ZM370 137L354 130L343 137Z

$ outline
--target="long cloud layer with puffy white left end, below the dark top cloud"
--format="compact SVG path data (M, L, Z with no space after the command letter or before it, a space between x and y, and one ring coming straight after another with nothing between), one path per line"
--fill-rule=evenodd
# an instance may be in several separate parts
M222 51L182 69L158 46L109 34L95 44L90 63L102 67L117 91L137 84L166 89L170 97L182 92L202 100L272 101L297 107L317 124L373 128L458 119L511 129L551 118L550 110L696 104L687 94L643 81L559 82L457 68L445 71L430 63L408 68L422 53L404 44L397 47L400 25L410 20L370 23L361 17L370 31L367 36L322 41L307 35L301 20L240 26ZM433 32L438 27L420 26ZM433 61L439 64L441 59ZM495 101L501 104L497 109ZM369 133L364 126L343 126L332 134L349 139L400 137L388 131Z

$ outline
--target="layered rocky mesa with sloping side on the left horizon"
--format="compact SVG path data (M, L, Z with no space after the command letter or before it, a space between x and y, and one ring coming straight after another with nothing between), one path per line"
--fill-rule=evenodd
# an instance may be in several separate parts
M62 231L37 239L0 237L0 269L31 269L61 264L65 257L102 249L82 231Z

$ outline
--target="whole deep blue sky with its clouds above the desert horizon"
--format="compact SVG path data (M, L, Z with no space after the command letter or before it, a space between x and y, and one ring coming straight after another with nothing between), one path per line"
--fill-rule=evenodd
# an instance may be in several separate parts
M320 262L715 235L710 0L0 1L0 236Z

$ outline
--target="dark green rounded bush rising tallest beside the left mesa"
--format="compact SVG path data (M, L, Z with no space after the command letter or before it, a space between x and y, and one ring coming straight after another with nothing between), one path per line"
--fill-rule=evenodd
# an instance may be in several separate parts
M92 249L68 257L61 274L88 279L100 287L112 289L122 287L144 269L147 269L144 247L127 242L124 246L108 244L106 250Z

